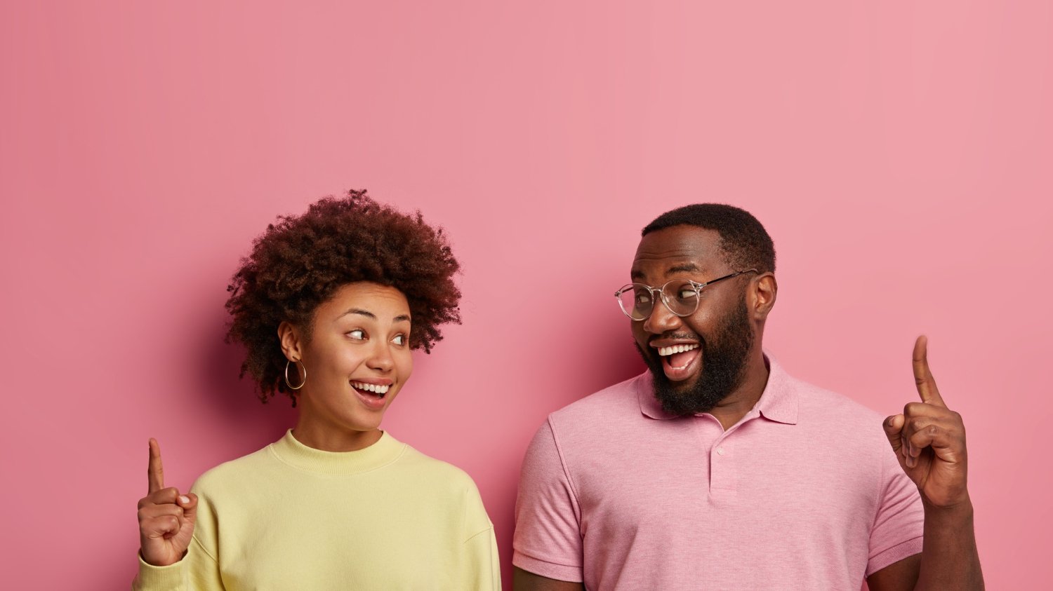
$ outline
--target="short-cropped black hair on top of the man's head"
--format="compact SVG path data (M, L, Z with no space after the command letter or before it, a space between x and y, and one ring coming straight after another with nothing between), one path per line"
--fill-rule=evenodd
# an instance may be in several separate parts
M672 226L716 230L724 260L735 270L775 272L775 244L764 226L746 209L723 203L694 203L658 216L640 236Z

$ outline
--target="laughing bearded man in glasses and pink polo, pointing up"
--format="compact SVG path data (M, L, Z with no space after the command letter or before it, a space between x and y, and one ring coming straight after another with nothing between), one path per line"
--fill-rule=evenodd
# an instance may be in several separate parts
M516 590L982 589L965 428L925 338L920 401L882 436L879 416L762 351L774 271L771 238L736 207L643 228L617 295L650 371L538 430Z

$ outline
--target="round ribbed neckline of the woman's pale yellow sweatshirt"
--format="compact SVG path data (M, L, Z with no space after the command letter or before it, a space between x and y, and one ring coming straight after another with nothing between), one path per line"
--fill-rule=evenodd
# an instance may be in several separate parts
M357 451L322 451L307 447L293 436L293 430L267 446L279 461L317 474L358 474L395 462L406 445L383 431L377 443Z

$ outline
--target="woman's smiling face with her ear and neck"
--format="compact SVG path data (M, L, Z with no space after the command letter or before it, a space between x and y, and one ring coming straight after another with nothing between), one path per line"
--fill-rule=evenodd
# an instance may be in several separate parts
M376 283L350 283L318 306L311 338L294 338L292 350L307 371L298 391L297 439L320 449L376 441L384 411L413 371L410 320L405 295ZM282 329L279 334L290 356ZM290 366L290 381L300 378Z

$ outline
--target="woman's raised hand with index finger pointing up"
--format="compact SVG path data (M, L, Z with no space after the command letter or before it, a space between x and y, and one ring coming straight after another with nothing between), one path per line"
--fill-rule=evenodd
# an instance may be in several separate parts
M139 500L139 551L142 559L156 567L178 563L186 553L197 518L197 495L179 494L164 488L164 468L157 440L150 440L150 483L146 496Z

